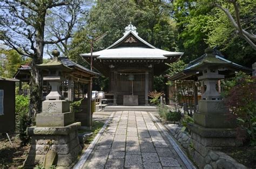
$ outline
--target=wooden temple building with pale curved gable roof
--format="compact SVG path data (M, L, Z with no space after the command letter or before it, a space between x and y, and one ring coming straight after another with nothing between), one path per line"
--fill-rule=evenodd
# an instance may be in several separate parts
M109 96L113 105L148 105L153 76L161 75L183 52L157 49L138 36L136 27L126 26L124 36L104 50L83 53L93 69L109 77Z

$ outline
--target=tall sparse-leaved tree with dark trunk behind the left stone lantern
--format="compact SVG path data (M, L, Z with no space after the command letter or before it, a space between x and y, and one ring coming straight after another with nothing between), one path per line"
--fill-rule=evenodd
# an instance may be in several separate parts
M41 111L42 73L36 65L43 62L44 46L72 37L72 30L83 1L1 1L0 40L19 55L32 58L30 79L30 114ZM63 17L65 13L66 17ZM47 25L59 18L62 24ZM58 21L56 19L55 21ZM65 30L65 31L62 31ZM51 36L49 35L51 32Z

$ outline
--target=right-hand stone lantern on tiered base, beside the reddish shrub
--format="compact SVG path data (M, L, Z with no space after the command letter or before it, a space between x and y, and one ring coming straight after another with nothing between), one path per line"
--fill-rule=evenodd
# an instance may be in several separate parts
M228 69L232 62L218 59L211 48L207 48L205 53L206 56L191 67L203 72L198 80L206 84L206 91L198 102L198 112L194 113L194 124L188 126L192 141L199 147L210 149L241 146L242 142L236 139L235 119L216 90L218 80L224 79L224 75L219 75L219 70Z

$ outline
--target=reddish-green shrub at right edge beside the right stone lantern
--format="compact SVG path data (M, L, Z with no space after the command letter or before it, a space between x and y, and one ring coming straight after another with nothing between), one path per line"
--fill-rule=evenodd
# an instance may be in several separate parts
M255 142L256 132L256 78L239 73L231 79L225 94L225 104L237 118L238 124L245 129L251 141Z

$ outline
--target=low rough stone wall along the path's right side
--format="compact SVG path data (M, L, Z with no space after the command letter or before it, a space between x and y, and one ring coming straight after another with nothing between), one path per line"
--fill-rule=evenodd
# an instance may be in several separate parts
M223 152L213 151L204 147L203 145L200 145L197 141L194 141L191 138L189 133L181 132L181 127L178 125L168 124L165 126L167 129L169 129L172 136L180 143L180 145L185 149L199 168L247 168Z

